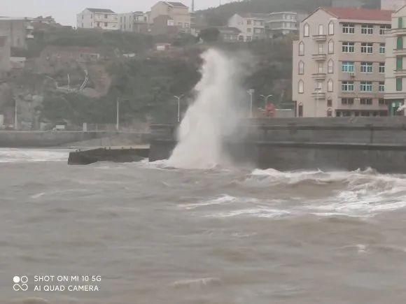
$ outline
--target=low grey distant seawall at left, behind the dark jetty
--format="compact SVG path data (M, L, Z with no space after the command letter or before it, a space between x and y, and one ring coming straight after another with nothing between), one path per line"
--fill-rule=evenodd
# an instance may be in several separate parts
M100 146L120 141L123 145L135 145L148 143L149 137L148 133L136 132L0 131L0 147L66 147L89 140Z

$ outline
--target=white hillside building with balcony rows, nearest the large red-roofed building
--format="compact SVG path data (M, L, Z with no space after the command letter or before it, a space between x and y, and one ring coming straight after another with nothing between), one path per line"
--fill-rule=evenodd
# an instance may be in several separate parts
M297 32L297 25L297 13L295 12L270 13L267 20L269 37Z

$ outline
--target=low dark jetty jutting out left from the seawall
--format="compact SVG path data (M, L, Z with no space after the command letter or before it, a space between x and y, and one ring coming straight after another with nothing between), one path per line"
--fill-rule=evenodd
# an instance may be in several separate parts
M89 165L98 161L131 163L148 158L149 148L142 149L95 149L69 153L69 165Z

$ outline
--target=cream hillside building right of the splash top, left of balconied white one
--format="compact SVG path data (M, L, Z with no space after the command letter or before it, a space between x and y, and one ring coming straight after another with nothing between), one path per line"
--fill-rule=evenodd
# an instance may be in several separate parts
M266 24L268 20L269 14L235 14L228 20L228 27L239 29L239 41L253 41L267 37Z

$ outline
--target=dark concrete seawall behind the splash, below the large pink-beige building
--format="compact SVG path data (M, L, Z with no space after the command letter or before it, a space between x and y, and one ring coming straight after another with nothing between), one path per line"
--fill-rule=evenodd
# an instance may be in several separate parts
M150 161L167 159L176 126L151 126ZM252 120L225 150L236 164L290 170L406 173L406 117Z

